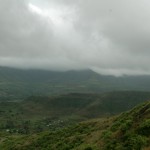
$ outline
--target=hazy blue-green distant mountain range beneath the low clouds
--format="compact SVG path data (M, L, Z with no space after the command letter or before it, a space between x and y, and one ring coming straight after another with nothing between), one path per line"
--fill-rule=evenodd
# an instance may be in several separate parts
M0 67L0 100L32 95L150 90L150 76L104 76L91 70L45 71Z

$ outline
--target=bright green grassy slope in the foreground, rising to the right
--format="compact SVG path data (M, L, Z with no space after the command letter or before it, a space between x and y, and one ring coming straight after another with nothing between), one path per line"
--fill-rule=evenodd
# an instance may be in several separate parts
M3 150L149 150L150 101L109 119L90 120L55 131L8 136Z

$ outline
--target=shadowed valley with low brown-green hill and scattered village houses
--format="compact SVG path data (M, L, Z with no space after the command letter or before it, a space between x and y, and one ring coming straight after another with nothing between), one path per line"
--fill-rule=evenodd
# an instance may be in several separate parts
M150 92L109 92L32 96L0 103L0 131L20 134L68 126L91 118L109 117L150 99Z

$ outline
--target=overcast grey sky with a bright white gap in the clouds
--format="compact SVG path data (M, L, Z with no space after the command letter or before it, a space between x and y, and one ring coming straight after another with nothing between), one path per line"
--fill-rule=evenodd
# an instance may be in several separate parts
M150 1L0 0L0 66L150 74Z

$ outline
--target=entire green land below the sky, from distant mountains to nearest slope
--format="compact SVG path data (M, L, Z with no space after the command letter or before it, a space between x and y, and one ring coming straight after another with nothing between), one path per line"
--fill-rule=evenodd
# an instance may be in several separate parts
M149 150L149 85L150 76L0 67L0 149Z

